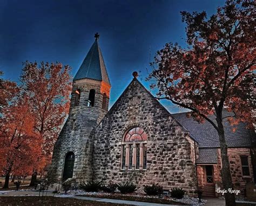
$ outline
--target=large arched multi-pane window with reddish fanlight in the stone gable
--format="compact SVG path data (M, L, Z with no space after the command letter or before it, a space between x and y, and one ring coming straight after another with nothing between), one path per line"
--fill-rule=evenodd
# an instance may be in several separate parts
M141 127L133 127L125 133L122 144L122 169L147 168L147 134Z

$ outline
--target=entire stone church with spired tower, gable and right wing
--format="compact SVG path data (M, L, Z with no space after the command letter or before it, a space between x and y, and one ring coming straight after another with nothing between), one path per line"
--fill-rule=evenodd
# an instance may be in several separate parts
M109 108L111 83L98 35L73 78L68 119L55 143L50 171L59 180L133 182L139 188L158 183L192 195L218 196L221 159L218 134L186 113L171 114L137 79ZM214 119L213 116L210 118ZM225 122L235 189L254 182L252 133Z

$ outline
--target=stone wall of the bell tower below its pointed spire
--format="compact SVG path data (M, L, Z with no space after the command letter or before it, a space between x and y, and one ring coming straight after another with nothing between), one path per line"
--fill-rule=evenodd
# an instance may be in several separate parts
M80 90L79 105L75 106L76 90ZM89 91L96 90L94 107L87 106ZM69 117L55 143L50 173L62 179L65 155L75 154L73 178L77 182L92 179L92 131L107 111L102 109L103 94L101 81L83 79L73 84ZM107 101L108 106L108 101Z

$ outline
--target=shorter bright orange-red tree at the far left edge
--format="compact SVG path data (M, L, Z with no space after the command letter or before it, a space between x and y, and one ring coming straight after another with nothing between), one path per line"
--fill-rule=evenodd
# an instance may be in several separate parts
M41 139L34 131L35 118L27 97L18 97L4 107L0 119L0 171L5 175L3 188L9 187L10 174L24 175L36 164L41 152Z

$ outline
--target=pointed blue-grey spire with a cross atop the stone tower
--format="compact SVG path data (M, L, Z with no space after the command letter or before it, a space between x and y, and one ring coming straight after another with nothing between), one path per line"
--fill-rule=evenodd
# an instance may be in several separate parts
M73 81L78 79L95 79L105 81L110 85L109 76L107 75L106 67L104 64L102 52L99 48L99 34L95 34L95 42L92 44L91 49L87 53L82 65L79 67Z

